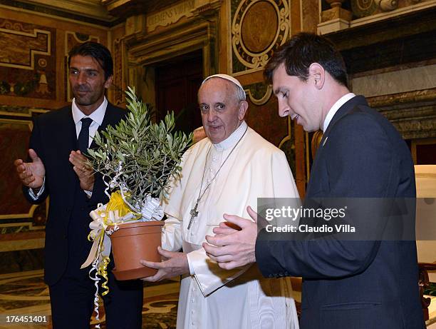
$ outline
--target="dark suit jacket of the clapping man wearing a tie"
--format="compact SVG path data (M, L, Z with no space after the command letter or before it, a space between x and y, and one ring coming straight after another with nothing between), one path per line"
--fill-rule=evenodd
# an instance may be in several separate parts
M103 123L114 126L125 116L125 111L108 103ZM93 144L91 144L91 148ZM106 203L104 183L95 175L93 194L88 198L80 187L73 165L68 161L71 151L77 151L76 126L71 106L44 113L33 121L29 148L33 148L46 168L45 188L34 201L24 188L24 196L31 203L41 203L50 196L46 223L44 280L53 285L67 274L88 279L88 268L80 270L88 256L91 243L88 241L91 221L89 213L98 203Z

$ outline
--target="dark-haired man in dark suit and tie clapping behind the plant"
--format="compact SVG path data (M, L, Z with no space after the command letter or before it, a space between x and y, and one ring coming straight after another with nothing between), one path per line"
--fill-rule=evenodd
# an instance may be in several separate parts
M74 47L68 68L73 103L38 116L29 143L31 161L15 161L28 201L41 203L50 196L44 279L55 329L90 328L95 285L88 277L90 268L81 270L81 264L91 246L89 213L108 198L101 176L93 175L83 153L92 147L95 131L115 125L125 115L105 98L113 77L112 56L105 46L85 42ZM141 328L142 282L118 282L108 272L110 293L103 296L106 328Z

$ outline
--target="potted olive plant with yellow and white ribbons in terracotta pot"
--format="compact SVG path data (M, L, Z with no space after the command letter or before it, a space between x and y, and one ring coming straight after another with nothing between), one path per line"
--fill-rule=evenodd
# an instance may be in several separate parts
M126 95L126 118L96 133L98 148L89 150L90 164L103 176L110 200L90 213L93 222L88 238L94 243L82 268L92 265L90 276L94 270L94 279L100 275L105 283L111 250L118 280L155 273L139 261L160 261L160 204L168 196L170 181L179 178L182 153L192 140L192 135L173 132L173 113L152 123L149 108L137 98L135 89L128 88Z

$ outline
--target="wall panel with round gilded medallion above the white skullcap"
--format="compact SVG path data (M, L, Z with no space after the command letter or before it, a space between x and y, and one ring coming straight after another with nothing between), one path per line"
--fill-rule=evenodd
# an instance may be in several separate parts
M232 72L263 69L291 33L289 1L232 0Z

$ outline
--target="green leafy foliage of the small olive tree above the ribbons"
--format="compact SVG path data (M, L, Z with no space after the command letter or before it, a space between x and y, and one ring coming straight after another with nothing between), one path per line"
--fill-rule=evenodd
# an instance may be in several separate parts
M137 98L135 88L125 93L129 113L115 127L95 133L98 148L89 151L90 163L106 182L115 182L111 188L128 192L130 204L141 205L147 196L167 199L170 178L180 178L180 161L192 133L173 132L174 113L152 123L150 109Z

